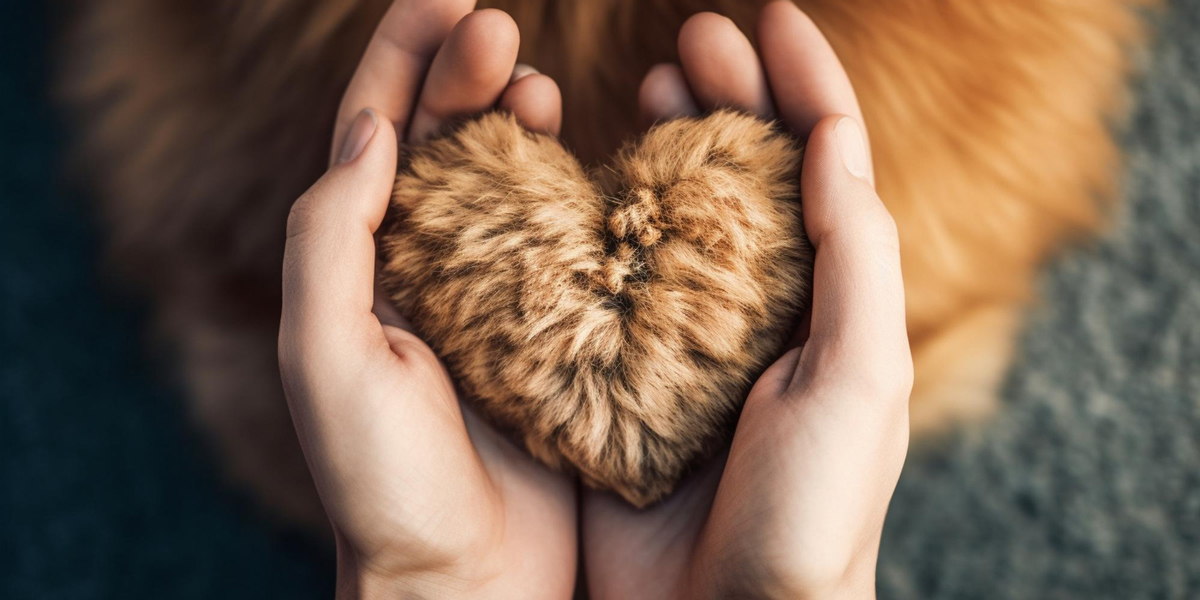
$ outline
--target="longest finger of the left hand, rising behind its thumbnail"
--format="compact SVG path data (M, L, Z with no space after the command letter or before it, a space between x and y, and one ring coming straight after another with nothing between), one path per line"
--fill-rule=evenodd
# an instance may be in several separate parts
M342 148L350 122L368 107L395 124L396 139L404 139L430 61L455 24L474 7L475 0L392 2L342 96L330 163Z

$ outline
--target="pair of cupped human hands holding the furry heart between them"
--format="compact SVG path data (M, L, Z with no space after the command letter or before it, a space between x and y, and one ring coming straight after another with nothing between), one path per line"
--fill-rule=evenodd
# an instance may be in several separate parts
M758 52L703 13L680 65L646 77L647 122L734 106L808 139L811 325L746 400L733 444L635 510L534 463L462 404L438 358L374 288L398 143L500 107L557 134L562 98L516 65L506 14L396 0L342 101L332 166L288 218L280 365L337 539L338 594L569 598L874 596L908 440L912 360L895 226L874 191L853 90L791 2ZM582 535L582 544L580 544Z

